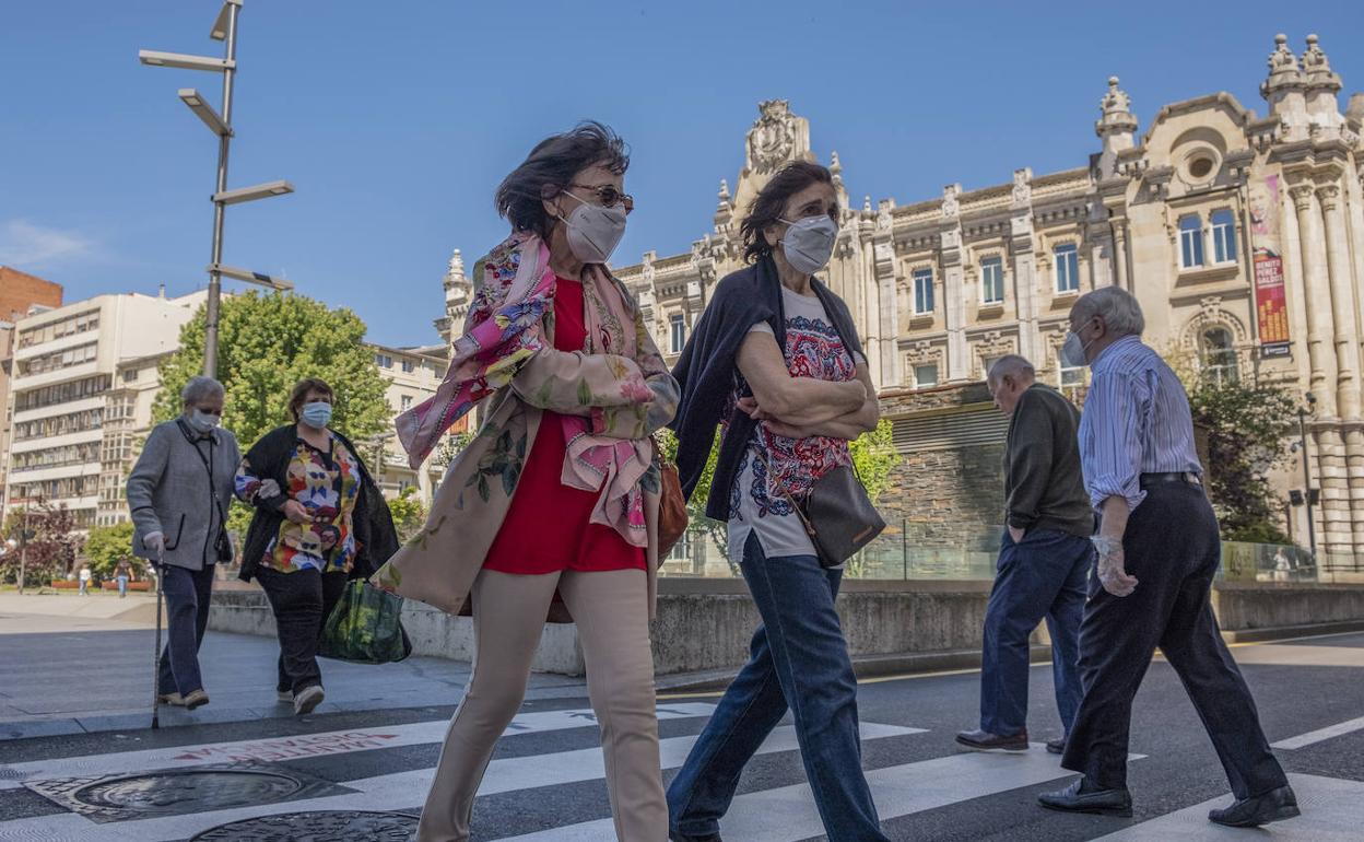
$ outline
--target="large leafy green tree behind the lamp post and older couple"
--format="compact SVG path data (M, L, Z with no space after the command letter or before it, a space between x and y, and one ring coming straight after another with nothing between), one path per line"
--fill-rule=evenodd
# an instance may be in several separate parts
M356 442L390 423L386 382L364 347L364 322L344 307L299 295L258 293L222 299L218 318L218 381L226 390L222 426L236 434L246 453L263 434L291 423L289 392L306 377L336 389L331 427ZM153 415L157 422L180 415L180 390L203 370L205 308L180 330L180 349L161 363L164 388ZM233 502L228 529L246 536L251 509Z

